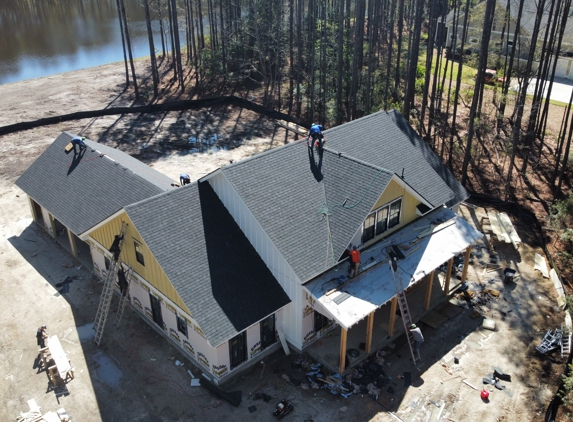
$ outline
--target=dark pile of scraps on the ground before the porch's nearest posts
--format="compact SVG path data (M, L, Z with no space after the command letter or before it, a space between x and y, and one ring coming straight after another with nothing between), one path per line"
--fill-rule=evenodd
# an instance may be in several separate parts
M389 385L392 381L392 378L383 370L384 366L390 366L390 363L385 362L384 355L385 352L379 350L356 368L349 370L344 377L338 373L328 374L328 370L323 368L322 364L315 363L310 359L298 359L293 366L305 372L305 378L308 382L299 382L295 377L287 374L283 374L282 378L303 390L309 388L324 389L333 395L340 395L344 398L348 398L352 394L368 394L376 400L382 386Z

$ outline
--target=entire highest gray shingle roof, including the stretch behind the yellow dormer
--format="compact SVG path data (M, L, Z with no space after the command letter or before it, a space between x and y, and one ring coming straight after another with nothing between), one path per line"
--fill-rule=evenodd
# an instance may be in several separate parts
M325 136L320 164L297 142L222 168L303 283L338 261L402 169L405 182L434 207L468 196L397 112L375 113Z

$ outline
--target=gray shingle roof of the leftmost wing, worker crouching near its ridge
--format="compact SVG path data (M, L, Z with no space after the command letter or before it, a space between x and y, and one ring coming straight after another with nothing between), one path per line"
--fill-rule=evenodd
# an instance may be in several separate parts
M66 155L72 137L67 132L58 136L16 185L76 235L125 205L173 189L167 176L97 142L86 140L81 154Z

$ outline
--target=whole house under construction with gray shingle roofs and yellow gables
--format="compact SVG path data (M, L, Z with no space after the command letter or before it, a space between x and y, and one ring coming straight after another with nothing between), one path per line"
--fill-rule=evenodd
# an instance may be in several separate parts
M482 234L455 213L467 192L398 112L325 136L322 150L293 142L176 187L97 142L65 154L64 132L16 184L105 281L98 344L130 305L216 383L281 343L342 372L447 294L454 257L465 271ZM337 343L321 341L331 331Z

